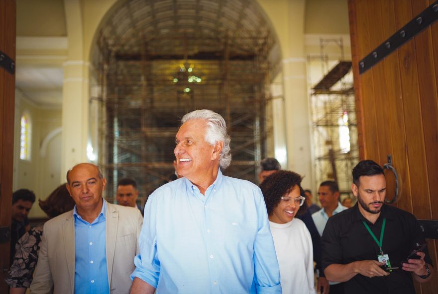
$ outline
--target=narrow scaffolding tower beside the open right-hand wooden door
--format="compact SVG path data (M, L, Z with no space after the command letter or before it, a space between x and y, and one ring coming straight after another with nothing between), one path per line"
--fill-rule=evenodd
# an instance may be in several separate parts
M340 56L328 70L326 46L330 43L337 46ZM351 171L359 160L351 61L344 61L342 38L320 39L320 47L321 55L308 59L309 64L321 62L324 75L310 96L316 187L334 180L341 195L351 197Z

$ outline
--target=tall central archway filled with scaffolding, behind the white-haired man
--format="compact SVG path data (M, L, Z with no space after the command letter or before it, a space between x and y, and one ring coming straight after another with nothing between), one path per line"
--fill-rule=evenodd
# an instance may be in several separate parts
M270 132L276 34L253 0L124 0L100 25L92 52L99 93L99 161L108 195L122 177L142 193L173 172L180 118L212 109L226 120L233 160L225 174L257 181Z

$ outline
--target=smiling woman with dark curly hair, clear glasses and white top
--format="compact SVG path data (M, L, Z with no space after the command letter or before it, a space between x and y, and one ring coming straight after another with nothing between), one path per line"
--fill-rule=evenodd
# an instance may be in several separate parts
M312 239L304 222L294 218L305 201L301 180L295 172L279 170L260 184L284 294L315 293Z

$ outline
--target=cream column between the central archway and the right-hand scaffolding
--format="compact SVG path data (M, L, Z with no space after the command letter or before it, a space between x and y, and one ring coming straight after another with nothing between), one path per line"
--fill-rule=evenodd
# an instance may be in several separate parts
M306 0L258 0L258 3L271 20L283 59L283 72L277 78L283 82L284 101L275 101L272 110L275 156L284 156L285 144L287 160L282 162L287 165L282 164L282 167L305 176L303 187L312 187L311 122L304 51Z

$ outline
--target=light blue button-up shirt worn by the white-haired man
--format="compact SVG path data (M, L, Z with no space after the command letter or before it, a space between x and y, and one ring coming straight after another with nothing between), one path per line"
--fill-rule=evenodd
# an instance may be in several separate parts
M186 178L148 199L131 278L157 294L281 293L260 189L219 170L205 196Z

